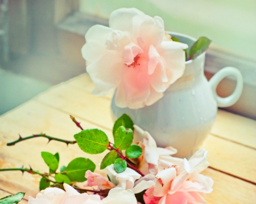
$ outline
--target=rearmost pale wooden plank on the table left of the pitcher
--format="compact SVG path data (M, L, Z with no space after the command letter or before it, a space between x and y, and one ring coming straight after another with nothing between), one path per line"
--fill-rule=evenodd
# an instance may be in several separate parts
M111 130L113 127L110 100L104 97L93 96L63 83L61 86L55 86L40 94L35 99L106 129Z

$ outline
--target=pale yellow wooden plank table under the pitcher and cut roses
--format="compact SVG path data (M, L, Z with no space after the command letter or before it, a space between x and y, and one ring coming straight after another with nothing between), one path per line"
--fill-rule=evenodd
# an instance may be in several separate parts
M113 121L110 115L112 95L97 97L90 94L93 84L82 74L52 87L27 103L0 117L0 168L31 167L41 172L48 168L41 151L60 152L60 165L67 165L78 156L100 163L103 154L88 155L77 145L65 145L46 138L30 139L6 146L18 134L47 133L53 137L73 139L78 133L69 114L81 121L83 128L99 128L112 140ZM203 174L214 180L208 203L256 203L256 121L233 113L218 111L217 120L204 147L209 151L210 167ZM97 167L98 168L98 167ZM99 169L99 168L98 168ZM28 196L39 191L40 177L21 172L0 172L0 197L26 192Z

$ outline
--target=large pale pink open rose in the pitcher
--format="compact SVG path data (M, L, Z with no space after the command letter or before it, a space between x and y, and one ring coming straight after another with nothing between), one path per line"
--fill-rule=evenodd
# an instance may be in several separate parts
M109 27L94 25L85 35L82 56L95 88L103 96L117 89L118 107L151 105L184 73L188 45L166 37L164 22L136 8L112 12Z

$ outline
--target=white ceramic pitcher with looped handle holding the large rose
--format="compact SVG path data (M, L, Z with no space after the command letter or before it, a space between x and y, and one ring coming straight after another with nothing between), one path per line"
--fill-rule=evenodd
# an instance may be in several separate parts
M196 40L179 33L170 33L190 47ZM243 79L239 70L225 67L208 82L204 76L205 53L185 62L185 72L164 92L162 99L139 109L119 108L112 100L114 118L128 114L134 124L148 131L159 147L172 146L175 156L189 158L198 150L216 120L217 107L229 107L239 99ZM233 75L237 86L233 94L222 98L216 94L218 83Z

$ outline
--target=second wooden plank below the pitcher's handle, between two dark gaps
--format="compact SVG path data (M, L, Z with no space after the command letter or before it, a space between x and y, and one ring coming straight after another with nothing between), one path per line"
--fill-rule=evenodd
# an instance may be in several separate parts
M210 167L256 183L255 150L213 135L208 135L204 147Z

